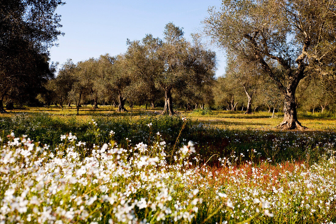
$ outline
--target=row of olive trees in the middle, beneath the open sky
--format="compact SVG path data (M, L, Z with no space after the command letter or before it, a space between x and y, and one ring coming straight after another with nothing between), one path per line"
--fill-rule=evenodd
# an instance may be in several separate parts
M192 105L211 105L215 81L216 54L204 47L200 35L192 42L183 38L183 31L172 23L164 30L164 39L146 35L141 41L127 40L126 53L100 55L74 64L62 65L56 78L49 80L46 91L38 99L47 106L75 104L77 114L82 103L119 105L127 111L125 102L157 104L163 114L174 114L176 106L191 109ZM174 99L174 100L173 100Z

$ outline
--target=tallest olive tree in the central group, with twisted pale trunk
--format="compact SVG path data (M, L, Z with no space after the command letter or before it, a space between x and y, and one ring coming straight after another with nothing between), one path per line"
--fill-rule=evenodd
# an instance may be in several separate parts
M205 86L214 79L215 53L205 49L197 35L190 43L183 34L181 28L168 23L164 29L164 40L153 38L151 34L141 42L128 40L127 65L131 73L143 79L152 92L154 86L164 91L163 114L175 113L172 91L180 98L185 98L186 94L194 95L195 101L197 93L208 89Z

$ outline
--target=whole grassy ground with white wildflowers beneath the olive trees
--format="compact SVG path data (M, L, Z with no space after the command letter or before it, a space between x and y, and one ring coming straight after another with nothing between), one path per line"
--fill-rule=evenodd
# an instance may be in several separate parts
M333 118L300 113L299 132L266 112L75 113L0 117L0 222L336 222Z

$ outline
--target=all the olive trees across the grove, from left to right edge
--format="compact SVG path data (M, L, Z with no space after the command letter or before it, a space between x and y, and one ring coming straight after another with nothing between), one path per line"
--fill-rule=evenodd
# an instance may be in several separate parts
M305 129L297 109L336 110L336 0L223 0L210 8L205 34L227 53L224 76L215 78L216 54L198 34L192 41L168 23L164 38L127 39L127 51L74 64L54 76L48 47L60 15L54 0L0 2L0 112L38 99L47 107L125 103L174 114L209 108L282 111L283 129Z

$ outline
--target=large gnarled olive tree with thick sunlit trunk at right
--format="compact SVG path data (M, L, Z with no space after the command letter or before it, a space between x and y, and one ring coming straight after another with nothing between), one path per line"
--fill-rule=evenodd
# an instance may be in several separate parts
M257 62L284 95L278 127L304 129L295 90L312 73L327 75L336 50L336 0L223 0L209 8L205 32L226 49ZM279 71L280 70L280 71Z

